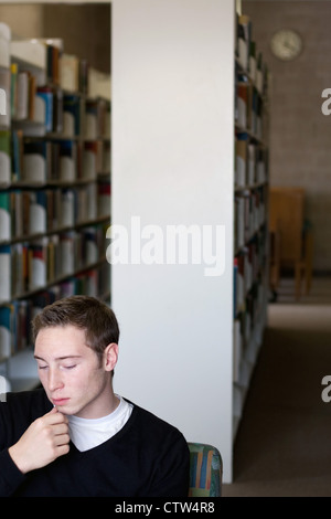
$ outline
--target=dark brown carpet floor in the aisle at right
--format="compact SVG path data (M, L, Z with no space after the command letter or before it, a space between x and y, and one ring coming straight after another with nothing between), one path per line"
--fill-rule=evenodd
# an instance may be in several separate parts
M331 278L314 279L298 303L292 282L282 280L268 307L224 497L331 497L324 375L331 375Z

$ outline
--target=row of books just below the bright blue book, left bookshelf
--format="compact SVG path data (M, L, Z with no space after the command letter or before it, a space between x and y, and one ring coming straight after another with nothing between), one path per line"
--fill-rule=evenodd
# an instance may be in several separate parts
M110 172L109 141L26 140L21 130L0 131L0 183L74 182L105 172Z

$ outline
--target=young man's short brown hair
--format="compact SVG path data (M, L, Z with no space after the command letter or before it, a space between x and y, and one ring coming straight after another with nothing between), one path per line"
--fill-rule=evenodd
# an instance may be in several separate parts
M118 343L119 327L114 311L90 296L70 296L45 306L32 320L33 342L41 329L67 325L85 330L86 346L99 359L109 343Z

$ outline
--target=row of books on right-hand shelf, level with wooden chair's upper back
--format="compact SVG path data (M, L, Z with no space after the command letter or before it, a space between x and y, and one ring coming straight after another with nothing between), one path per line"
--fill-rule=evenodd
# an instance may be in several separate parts
M266 221L266 186L241 191L234 204L234 250L244 247Z

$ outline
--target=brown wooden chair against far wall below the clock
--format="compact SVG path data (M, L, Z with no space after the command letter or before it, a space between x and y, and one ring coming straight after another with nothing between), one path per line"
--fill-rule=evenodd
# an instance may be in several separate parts
M305 220L305 189L271 187L269 195L269 229L274 240L278 240L277 254L271 255L270 276L274 278L270 277L270 285L274 289L275 275L279 280L281 268L292 268L295 295L299 299L302 278L306 280L306 294L309 294L312 276L313 236Z

